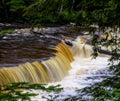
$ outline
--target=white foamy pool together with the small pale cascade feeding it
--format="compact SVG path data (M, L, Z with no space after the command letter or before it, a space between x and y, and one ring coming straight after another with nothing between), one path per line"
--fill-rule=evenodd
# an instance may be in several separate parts
M92 47L85 43L83 37L78 37L72 42L73 46L69 47L74 61L70 63L71 69L68 75L59 82L49 83L48 85L60 84L64 90L60 93L47 93L39 90L32 90L38 94L38 96L32 98L32 101L47 101L42 98L54 98L59 95L56 99L57 101L63 101L64 98L69 98L76 96L77 92L75 90L82 89L84 87L90 86L96 82L101 82L103 77L111 76L112 73L107 71L108 66L108 56L98 56L93 59L91 54L93 53ZM67 62L66 62L67 63ZM86 96L83 96L83 98Z

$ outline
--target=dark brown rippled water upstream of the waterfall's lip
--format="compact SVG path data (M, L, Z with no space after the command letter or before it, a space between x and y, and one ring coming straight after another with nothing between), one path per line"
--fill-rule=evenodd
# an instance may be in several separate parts
M15 66L53 56L58 39L37 34L7 35L0 40L0 67Z

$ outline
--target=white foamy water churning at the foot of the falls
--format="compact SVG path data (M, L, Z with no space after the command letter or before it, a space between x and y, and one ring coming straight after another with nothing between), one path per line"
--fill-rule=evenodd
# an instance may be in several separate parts
M97 57L96 59L75 57L75 60L71 63L72 69L69 71L69 75L60 82L48 84L60 84L64 90L60 93L31 90L31 92L38 94L38 96L32 98L32 101L47 101L42 96L54 99L55 96L59 95L57 101L75 96L77 95L75 90L90 86L96 82L101 82L104 77L111 76L111 73L107 71L108 63L108 57Z

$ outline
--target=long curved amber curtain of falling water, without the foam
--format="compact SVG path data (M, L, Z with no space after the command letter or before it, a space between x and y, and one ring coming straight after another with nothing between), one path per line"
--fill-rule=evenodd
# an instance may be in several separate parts
M62 80L71 69L72 54L64 42L59 43L54 57L42 62L26 62L0 69L0 85L12 82L48 83Z

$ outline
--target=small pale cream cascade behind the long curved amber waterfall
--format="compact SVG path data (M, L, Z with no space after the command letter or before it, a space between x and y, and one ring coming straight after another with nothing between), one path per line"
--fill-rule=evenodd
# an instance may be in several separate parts
M86 44L87 39L79 36L74 42L71 52L74 57L88 58L93 53L93 49L90 45Z

